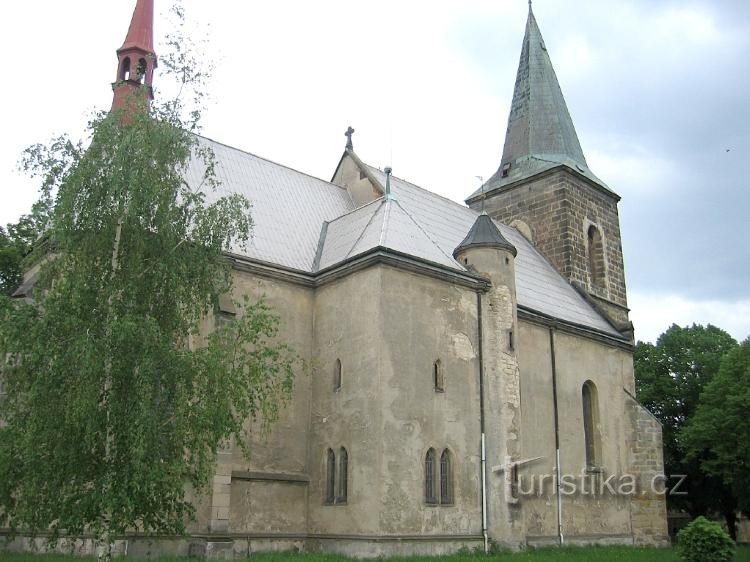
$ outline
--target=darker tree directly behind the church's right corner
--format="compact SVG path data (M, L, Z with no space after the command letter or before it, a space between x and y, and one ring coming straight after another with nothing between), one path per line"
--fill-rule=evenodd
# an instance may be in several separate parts
M716 376L722 357L736 346L715 326L673 325L656 345L639 342L635 349L638 398L663 424L665 472L687 475L681 490L687 495L668 495L667 500L670 508L693 516L718 511L732 518L737 507L721 479L686 461L681 449L683 429L698 409L701 392Z

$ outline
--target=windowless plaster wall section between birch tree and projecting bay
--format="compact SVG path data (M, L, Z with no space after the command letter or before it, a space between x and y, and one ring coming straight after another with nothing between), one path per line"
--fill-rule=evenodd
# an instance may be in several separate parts
M234 296L241 300L243 295L266 301L280 319L278 340L309 362L313 290L236 271ZM269 430L248 423L251 431L249 459L231 444L219 451L211 494L210 531L223 534L307 531L306 484L287 478L308 473L311 383L311 376L300 370L294 381L291 400ZM255 479L253 475L257 473L263 478ZM249 506L252 510L246 511Z

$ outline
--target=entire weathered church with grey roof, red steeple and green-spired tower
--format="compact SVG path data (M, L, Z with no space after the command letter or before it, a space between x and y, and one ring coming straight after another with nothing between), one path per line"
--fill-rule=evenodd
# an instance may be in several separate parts
M115 106L151 87L152 24L153 0L138 0ZM265 297L316 369L250 460L220 451L191 536L159 549L664 544L620 197L586 163L531 9L499 167L466 205L366 164L352 133L330 181L201 139L219 195L253 205L252 241L230 256L235 296ZM217 318L236 313L227 300Z

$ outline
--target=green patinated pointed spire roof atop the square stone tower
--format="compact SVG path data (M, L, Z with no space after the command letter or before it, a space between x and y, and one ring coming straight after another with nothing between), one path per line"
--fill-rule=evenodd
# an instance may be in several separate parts
M609 191L589 170L560 83L533 11L529 9L500 168L484 191L566 165ZM507 173L503 174L503 169ZM482 193L473 193L469 199Z

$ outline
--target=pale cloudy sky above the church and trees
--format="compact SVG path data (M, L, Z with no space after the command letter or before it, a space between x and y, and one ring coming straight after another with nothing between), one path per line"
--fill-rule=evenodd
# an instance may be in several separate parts
M3 6L0 224L37 185L26 146L108 108L135 0ZM156 0L157 51L169 0ZM204 133L330 179L366 162L463 201L500 163L526 0L186 0L216 72ZM636 337L750 335L750 2L536 0L590 168L622 196ZM158 71L157 71L158 72ZM158 86L158 74L156 79Z

